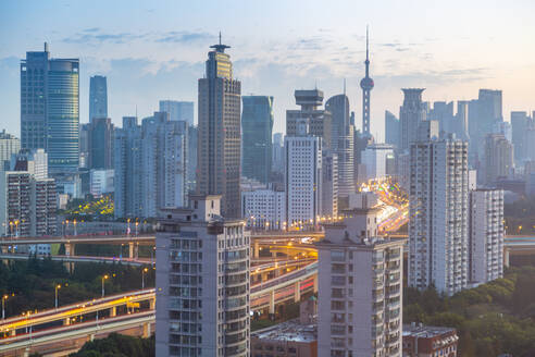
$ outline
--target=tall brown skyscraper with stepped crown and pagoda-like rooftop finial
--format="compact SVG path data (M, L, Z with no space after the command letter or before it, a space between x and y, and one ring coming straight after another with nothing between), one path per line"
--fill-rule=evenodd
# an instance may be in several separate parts
M207 73L199 79L199 141L197 151L197 193L222 195L222 213L237 218L240 208L240 93L233 79L229 46L211 46Z

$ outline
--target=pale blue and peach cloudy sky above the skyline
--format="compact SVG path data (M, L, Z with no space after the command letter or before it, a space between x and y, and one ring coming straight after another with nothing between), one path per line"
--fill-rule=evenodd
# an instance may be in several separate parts
M365 27L370 26L371 131L384 138L403 87L424 100L503 90L503 113L535 110L535 1L16 1L0 2L0 130L20 135L20 61L49 44L53 58L80 60L80 123L89 77L108 77L109 116L150 116L161 99L197 102L209 46L219 32L242 95L274 96L274 132L296 109L294 90L325 100L344 79L362 121Z

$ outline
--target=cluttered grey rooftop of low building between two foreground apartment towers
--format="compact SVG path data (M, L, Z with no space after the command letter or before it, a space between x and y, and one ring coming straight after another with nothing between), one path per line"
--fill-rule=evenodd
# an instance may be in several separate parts
M289 320L268 329L251 332L251 337L309 343L318 340L318 327L315 324L300 324L299 320Z

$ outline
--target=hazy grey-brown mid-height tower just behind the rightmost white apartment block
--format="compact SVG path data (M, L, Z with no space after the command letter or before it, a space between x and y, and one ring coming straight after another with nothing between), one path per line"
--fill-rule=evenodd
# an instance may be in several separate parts
M482 182L493 187L499 178L507 178L511 175L514 167L513 146L503 134L487 134L485 136L485 176Z

